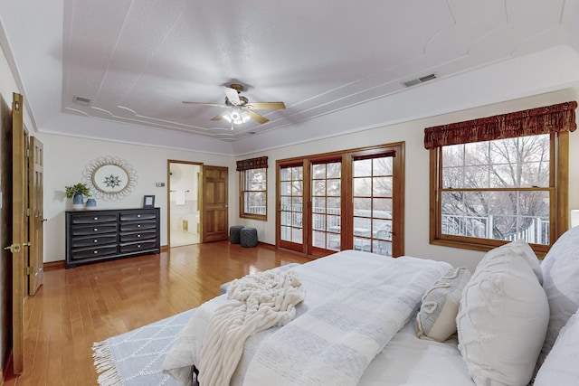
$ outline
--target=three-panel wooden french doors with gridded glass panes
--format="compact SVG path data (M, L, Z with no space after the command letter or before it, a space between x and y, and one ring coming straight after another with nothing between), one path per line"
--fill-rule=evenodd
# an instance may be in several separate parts
M277 242L311 256L403 254L403 143L279 160Z

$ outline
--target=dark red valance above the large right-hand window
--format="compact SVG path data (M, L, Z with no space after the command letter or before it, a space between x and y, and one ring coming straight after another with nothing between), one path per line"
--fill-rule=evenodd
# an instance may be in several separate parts
M468 144L513 137L574 131L577 102L531 108L494 117L467 120L424 129L424 147Z

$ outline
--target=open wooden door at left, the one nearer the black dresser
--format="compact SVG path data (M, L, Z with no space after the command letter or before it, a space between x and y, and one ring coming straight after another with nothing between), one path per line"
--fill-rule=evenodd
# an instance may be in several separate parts
M30 249L28 295L43 284L43 143L30 137L28 192L30 200Z

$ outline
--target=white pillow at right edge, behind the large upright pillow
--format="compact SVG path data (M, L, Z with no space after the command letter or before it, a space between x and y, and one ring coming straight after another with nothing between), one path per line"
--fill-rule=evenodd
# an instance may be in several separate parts
M579 307L579 227L566 231L541 263L551 316L539 365L555 344L559 330Z

